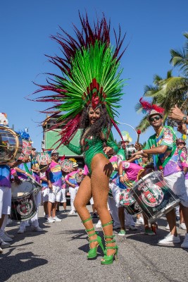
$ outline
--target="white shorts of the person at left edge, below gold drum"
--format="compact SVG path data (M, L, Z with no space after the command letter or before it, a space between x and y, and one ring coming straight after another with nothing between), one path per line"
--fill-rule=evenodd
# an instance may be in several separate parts
M11 188L0 186L0 218L2 214L11 214Z

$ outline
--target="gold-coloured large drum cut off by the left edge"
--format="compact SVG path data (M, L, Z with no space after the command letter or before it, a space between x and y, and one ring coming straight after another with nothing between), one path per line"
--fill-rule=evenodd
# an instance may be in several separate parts
M23 150L23 141L20 135L11 128L0 126L0 162L19 159Z

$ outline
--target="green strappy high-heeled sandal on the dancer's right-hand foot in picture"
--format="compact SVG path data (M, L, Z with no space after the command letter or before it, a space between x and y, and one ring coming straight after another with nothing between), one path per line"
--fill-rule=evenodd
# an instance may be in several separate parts
M112 223L113 223L113 221L110 221L110 222L102 225L102 227L108 226ZM118 259L118 246L117 245L109 246L109 247L107 246L110 243L115 243L115 240L113 239L114 236L115 235L110 235L110 236L104 235L106 249L105 249L105 252L104 252L105 255L104 255L103 259L101 260L101 264L112 264L114 259L115 259L115 261ZM112 239L112 240L106 240L106 239ZM108 249L115 250L115 253L113 255L106 255Z

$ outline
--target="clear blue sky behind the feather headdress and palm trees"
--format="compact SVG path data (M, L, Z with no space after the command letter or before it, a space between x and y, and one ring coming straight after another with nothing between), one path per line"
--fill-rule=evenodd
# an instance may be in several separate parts
M29 128L30 137L37 150L41 149L42 128L39 122L45 116L38 111L49 104L30 102L25 97L44 83L43 73L58 73L44 54L58 53L58 45L50 35L56 35L59 27L73 35L72 23L80 27L78 10L87 11L93 20L102 12L111 19L111 27L127 32L124 46L129 44L121 60L123 78L129 78L118 120L135 127L142 114L134 111L134 106L144 93L145 85L152 85L153 75L165 77L170 66L170 49L180 49L184 45L183 33L187 28L188 1L175 0L7 0L0 4L1 18L1 112L8 114L9 125L15 130ZM179 75L173 71L173 75ZM129 131L136 140L134 130L120 125L120 130ZM147 140L153 130L140 136ZM116 139L118 134L114 132Z

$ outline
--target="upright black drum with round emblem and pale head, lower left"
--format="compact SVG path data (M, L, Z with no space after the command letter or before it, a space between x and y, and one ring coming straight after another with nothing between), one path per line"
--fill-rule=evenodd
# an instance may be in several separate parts
M11 219L13 221L27 221L37 213L37 205L33 185L30 181L23 181L20 185L11 184Z

